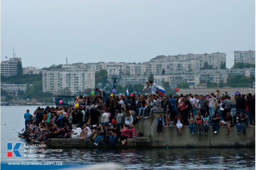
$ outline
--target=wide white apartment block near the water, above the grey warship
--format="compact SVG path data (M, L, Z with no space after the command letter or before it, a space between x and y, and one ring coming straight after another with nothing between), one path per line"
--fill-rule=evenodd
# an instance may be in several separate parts
M59 93L69 88L72 94L79 94L87 88L95 86L95 72L84 69L44 70L43 92Z

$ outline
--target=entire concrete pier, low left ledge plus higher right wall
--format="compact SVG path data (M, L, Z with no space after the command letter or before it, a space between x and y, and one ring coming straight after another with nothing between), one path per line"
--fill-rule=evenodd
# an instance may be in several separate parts
M157 118L158 114L163 115L163 110L154 110L153 118L140 119L139 131L142 131L144 137L136 139L128 139L125 146L121 146L121 142L116 144L116 147L255 147L255 126L245 127L246 134L237 134L236 126L231 127L229 134L226 134L226 127L219 128L218 134L214 134L212 126L209 127L208 135L195 134L191 135L189 126L182 127L181 134L178 134L178 129L175 126L164 126L162 135L157 135ZM139 134L137 129L137 134ZM149 138L151 135L152 138ZM48 147L110 147L109 145L100 144L93 145L94 141L90 139L48 139Z

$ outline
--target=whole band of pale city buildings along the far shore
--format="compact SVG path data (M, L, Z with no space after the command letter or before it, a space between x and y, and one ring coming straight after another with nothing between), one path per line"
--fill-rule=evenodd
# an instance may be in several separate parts
M1 74L5 76L15 75L13 60L1 62ZM21 58L19 58L21 61ZM234 51L234 62L255 64L255 51ZM207 67L206 67L207 66ZM212 70L202 70L211 67ZM94 88L95 71L105 69L108 78L112 74L120 75L118 84L144 84L150 74L154 75L154 81L160 86L169 82L170 88L175 88L182 82L188 83L191 88L202 88L205 81L211 83L227 83L228 75L240 74L255 76L255 68L223 69L226 68L226 54L185 54L173 56L156 56L149 62L143 63L74 63L62 65L59 70L38 70L34 67L23 68L23 74L42 74L43 92L56 93L64 88L69 88L72 94L77 94L86 88ZM10 71L8 71L10 70ZM7 74L8 71L8 74Z

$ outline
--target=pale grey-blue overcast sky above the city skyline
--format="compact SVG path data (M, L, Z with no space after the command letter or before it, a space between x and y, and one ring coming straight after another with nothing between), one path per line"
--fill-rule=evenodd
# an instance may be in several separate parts
M1 61L146 62L255 50L255 0L1 0Z

